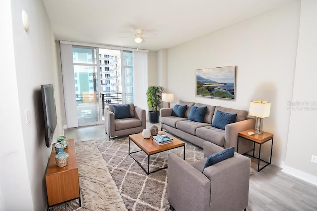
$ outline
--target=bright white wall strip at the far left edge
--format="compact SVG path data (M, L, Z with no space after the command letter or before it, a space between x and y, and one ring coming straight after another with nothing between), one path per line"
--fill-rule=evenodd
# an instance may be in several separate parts
M33 210L17 97L18 82L9 0L0 1L0 15L0 210Z

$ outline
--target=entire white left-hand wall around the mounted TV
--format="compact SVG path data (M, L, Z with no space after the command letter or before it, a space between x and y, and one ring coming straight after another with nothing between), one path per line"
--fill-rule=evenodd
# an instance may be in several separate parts
M8 78L0 83L5 92L2 99L6 99L6 113L4 119L1 113L0 120L1 125L5 124L1 137L4 135L2 149L6 151L1 154L6 155L1 157L1 169L5 169L0 177L1 206L3 210L42 211L46 205L44 175L51 149L45 146L41 84L55 85L58 125L54 137L63 132L56 46L42 0L5 0L4 4L0 14L6 29L1 38L3 33L7 39L1 39L6 47L1 59L8 66L3 73ZM22 10L29 16L27 32L22 24ZM26 109L31 113L29 124Z

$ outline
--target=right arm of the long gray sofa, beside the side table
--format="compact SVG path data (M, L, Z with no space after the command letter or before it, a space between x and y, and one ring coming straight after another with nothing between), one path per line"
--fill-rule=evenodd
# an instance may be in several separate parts
M224 131L224 148L235 147L235 150L237 150L238 133L244 130L252 129L254 126L254 118L227 124Z

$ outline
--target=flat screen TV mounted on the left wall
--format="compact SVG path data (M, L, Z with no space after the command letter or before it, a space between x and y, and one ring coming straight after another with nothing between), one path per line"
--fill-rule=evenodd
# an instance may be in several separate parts
M45 144L47 147L50 147L57 125L54 86L53 84L41 85L41 91L44 111Z

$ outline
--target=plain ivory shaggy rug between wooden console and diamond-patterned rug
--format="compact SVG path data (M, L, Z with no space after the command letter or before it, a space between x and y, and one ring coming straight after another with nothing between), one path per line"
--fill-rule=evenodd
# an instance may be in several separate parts
M81 207L72 200L50 208L51 211L124 211L125 204L95 141L76 142Z

